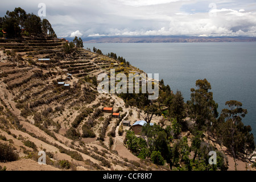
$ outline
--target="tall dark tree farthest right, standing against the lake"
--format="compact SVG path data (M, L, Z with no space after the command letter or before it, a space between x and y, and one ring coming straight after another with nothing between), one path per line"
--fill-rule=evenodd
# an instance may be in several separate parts
M253 134L250 134L251 127L244 126L242 118L247 114L247 110L242 108L242 103L238 101L227 101L229 109L222 109L221 118L225 119L222 127L222 137L224 145L232 152L236 164L239 153L250 155L255 149Z

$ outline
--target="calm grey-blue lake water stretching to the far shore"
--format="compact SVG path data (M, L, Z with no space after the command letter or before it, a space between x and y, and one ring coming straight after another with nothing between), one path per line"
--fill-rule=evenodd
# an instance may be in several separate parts
M102 43L84 44L91 50L114 52L146 73L159 73L165 85L184 101L190 100L196 80L207 78L212 85L218 111L225 102L242 102L248 114L242 119L256 136L256 42L245 43ZM256 137L255 137L256 139Z

